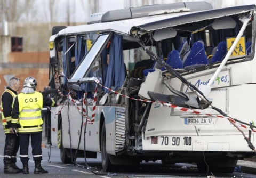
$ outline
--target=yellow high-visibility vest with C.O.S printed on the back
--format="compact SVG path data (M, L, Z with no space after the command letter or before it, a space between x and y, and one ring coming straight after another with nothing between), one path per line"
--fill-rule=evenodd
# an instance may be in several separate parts
M17 97L19 102L19 133L42 132L42 93L20 93Z

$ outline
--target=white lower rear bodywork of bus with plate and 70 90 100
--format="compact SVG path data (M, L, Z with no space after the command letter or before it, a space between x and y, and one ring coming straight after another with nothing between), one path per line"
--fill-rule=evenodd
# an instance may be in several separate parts
M214 88L209 95L213 106L228 116L245 123L255 122L256 84ZM226 103L226 104L225 104ZM145 150L251 151L244 137L226 118L191 115L169 107L153 104L145 132ZM205 109L211 111L211 109ZM202 112L202 110L198 110ZM204 114L207 114L205 111ZM210 113L211 114L211 113ZM219 114L220 115L220 114ZM161 117L159 117L161 116ZM239 128L249 136L249 129ZM252 143L255 143L252 132ZM151 142L158 136L158 143Z

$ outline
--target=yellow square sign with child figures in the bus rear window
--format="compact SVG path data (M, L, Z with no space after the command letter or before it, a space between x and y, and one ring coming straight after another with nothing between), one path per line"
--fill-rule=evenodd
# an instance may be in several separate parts
M236 37L230 37L226 38L227 42L227 52L229 51L230 47L235 42ZM245 56L246 54L246 47L245 47L245 36L242 36L238 43L236 44L236 47L232 51L230 58L237 58L238 56Z

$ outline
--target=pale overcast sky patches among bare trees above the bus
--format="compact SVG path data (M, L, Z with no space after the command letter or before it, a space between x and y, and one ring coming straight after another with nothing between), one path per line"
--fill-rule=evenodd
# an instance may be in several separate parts
M0 0L1 1L1 0ZM25 1L25 0L21 0ZM57 0L56 0L57 1ZM137 7L142 5L142 0L98 0L98 10L99 12L106 12L109 10L115 10L115 9L124 9L126 7ZM198 0L184 0L184 2L193 2ZM247 5L247 4L256 4L256 0L205 0L206 2L209 2L213 5L214 8L220 8L220 7L230 7L230 6L236 6L236 5ZM49 6L47 5L47 0L35 0L37 7L43 7L44 12L42 12L42 15L45 14L49 15L49 13L45 13L47 8ZM83 3L82 3L83 2ZM95 1L96 2L96 1ZM175 1L175 0L148 0L148 3L151 4L167 4L167 3L174 3L174 2L181 2ZM58 1L58 7L56 11L58 13L56 14L56 17L54 20L57 19L58 22L67 22L67 3L70 5L71 9L71 18L70 20L72 22L87 22L87 19L89 15L91 15L93 7L89 6L89 0L59 0ZM40 8L41 9L41 8ZM49 18L48 18L49 19ZM41 18L40 21L47 21L47 18Z

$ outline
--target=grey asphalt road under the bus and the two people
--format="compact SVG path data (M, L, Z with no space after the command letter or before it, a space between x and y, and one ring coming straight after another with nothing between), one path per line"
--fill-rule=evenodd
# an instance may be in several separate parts
M117 173L108 173L102 172L101 167L101 155L98 153L97 159L86 159L87 164L90 168L87 168L85 165L84 158L77 158L76 164L62 164L60 160L60 151L58 148L46 147L43 146L43 161L41 166L49 171L48 174L34 174L34 161L31 155L31 146L29 147L29 174L4 174L4 164L3 164L3 150L4 150L4 143L5 143L5 135L3 131L2 123L0 122L0 134L3 136L0 137L0 178L2 177L209 177L214 178L214 176L206 176L206 175L198 175L196 171L196 166L191 164L183 164L177 163L170 167L162 168L161 161L157 161L156 163L142 163L140 165L139 172L133 172L130 170L129 172L117 172ZM46 139L43 134L43 142L46 142ZM22 168L22 163L19 159L19 152L17 154L17 166ZM243 177L243 178L252 178L256 177L253 174L245 174L245 173L233 173L233 174L223 174L217 175L215 177L218 178L227 178L227 177Z

